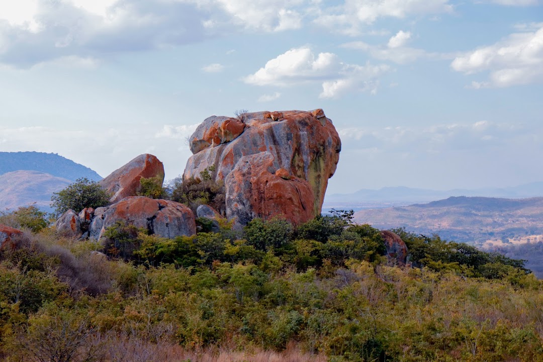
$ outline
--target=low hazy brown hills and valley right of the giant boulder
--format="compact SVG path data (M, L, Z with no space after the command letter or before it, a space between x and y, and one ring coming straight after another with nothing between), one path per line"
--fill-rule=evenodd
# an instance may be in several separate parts
M355 212L355 220L383 229L438 233L447 240L478 246L489 240L521 243L543 240L543 198L451 197L428 204L364 209Z

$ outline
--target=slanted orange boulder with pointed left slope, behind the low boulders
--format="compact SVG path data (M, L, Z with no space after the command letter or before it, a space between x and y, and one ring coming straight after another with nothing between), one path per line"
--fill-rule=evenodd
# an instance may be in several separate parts
M111 192L110 202L120 201L128 196L136 196L141 191L140 180L144 177L160 177L164 181L164 166L153 155L143 154L113 171L111 175L100 181L100 185Z

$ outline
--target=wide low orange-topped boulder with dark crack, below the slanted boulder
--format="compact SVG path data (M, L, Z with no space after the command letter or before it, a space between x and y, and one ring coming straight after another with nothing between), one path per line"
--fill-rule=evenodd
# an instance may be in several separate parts
M150 234L165 238L196 233L194 214L179 202L131 196L105 208L97 208L89 227L89 237L99 240L107 227L124 221Z

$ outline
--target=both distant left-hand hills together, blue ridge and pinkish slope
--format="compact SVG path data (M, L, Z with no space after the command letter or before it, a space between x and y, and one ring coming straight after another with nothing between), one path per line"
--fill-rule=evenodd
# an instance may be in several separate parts
M51 195L80 177L102 180L92 169L58 154L0 152L0 211L33 203L50 211Z

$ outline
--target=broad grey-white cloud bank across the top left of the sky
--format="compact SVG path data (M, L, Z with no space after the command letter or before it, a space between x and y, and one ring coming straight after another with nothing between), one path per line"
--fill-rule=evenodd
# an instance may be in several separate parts
M0 2L0 63L102 59L239 31L302 26L309 0L17 0Z

